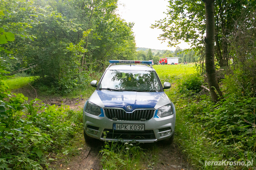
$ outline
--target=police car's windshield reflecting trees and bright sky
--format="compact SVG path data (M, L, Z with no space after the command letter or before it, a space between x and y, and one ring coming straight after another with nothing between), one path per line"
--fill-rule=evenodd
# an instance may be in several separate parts
M107 70L99 85L99 90L125 90L141 92L161 91L154 71Z

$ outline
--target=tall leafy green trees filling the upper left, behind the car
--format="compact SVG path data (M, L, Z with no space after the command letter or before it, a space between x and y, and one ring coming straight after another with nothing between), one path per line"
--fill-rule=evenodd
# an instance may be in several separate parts
M26 72L50 91L83 87L88 73L104 71L110 59L135 57L133 23L116 10L116 0L1 1L0 35L13 33L13 42L4 42L9 52L0 48L6 70L34 66Z

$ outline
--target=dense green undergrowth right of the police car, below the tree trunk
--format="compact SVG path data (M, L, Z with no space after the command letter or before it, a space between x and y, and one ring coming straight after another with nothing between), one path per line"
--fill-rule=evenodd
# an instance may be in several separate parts
M244 92L238 78L225 76L221 82L225 99L216 104L208 93L188 90L187 85L194 82L186 82L188 78L177 82L178 90L167 93L177 109L175 142L197 169L232 168L204 166L205 161L255 161L256 98ZM237 166L236 169L248 168Z

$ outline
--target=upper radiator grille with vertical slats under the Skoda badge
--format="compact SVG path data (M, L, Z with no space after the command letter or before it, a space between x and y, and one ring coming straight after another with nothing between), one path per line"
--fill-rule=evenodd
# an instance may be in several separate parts
M150 120L154 116L155 109L135 110L127 113L123 109L104 109L105 116L113 120L143 121Z

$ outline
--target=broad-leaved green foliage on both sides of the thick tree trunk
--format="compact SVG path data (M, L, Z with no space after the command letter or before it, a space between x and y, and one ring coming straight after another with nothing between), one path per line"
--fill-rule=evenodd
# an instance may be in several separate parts
M203 1L170 0L169 3L166 17L152 25L152 28L163 30L159 38L168 41L170 46L179 44L181 40L193 47L203 46L206 27ZM241 11L250 14L255 8L256 1L253 0L214 1L215 56L220 67L229 64L231 44L228 37L236 30L234 25Z

